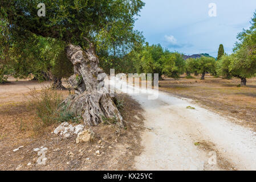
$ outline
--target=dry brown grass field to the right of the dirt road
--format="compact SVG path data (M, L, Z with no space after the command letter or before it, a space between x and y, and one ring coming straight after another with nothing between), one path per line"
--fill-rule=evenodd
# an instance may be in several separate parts
M256 78L247 79L246 87L237 87L240 80L223 80L206 75L179 80L166 78L159 81L159 90L176 96L191 98L198 104L225 116L237 118L237 123L256 131Z

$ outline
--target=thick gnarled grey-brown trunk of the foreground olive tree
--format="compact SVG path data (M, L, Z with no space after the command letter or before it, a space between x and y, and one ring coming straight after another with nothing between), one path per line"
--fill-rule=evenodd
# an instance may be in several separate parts
M105 73L98 66L99 59L94 47L91 45L84 51L81 47L70 44L66 53L74 65L75 74L68 82L75 89L75 94L69 96L62 104L67 105L67 109L76 115L82 115L85 125L95 126L104 119L111 119L123 126L119 110L108 90L100 84Z

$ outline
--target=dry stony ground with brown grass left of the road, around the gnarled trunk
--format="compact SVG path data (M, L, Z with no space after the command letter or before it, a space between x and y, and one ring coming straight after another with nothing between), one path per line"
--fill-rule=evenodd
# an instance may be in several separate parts
M36 114L35 106L40 105L42 100L38 100L37 103L34 100L33 107L33 103L29 102L30 89L20 88L24 86L20 82L11 84L14 84L12 94L15 94L16 102L10 101L9 98L0 99L0 170L14 170L19 164L23 165L23 170L133 169L135 155L140 155L141 152L140 131L144 127L141 114L143 110L132 98L127 95L117 96L120 106L123 105L121 114L125 120L124 129L101 123L99 126L91 127L95 133L92 142L76 144L75 135L64 139L51 133L58 123L40 127L41 132L35 133L35 123L42 122ZM23 92L15 93L15 86L23 89ZM8 87L5 88L6 90L0 90L2 96L8 92ZM38 89L36 92L38 93ZM65 98L69 93L58 91L58 94ZM135 115L141 119L135 118ZM100 139L103 142L99 144ZM14 148L19 146L24 147L13 152ZM45 166L36 166L39 156L33 149L40 146L48 148ZM100 150L101 156L95 155L96 150ZM87 160L88 158L90 159ZM32 163L30 167L27 166L29 162Z

